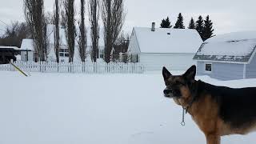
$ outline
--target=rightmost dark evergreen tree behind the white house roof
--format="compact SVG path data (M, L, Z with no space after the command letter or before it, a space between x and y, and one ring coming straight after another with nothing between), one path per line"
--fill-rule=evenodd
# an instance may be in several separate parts
M210 18L209 18L209 15L207 15L206 17L206 20L204 20L205 22L205 25L204 25L204 28L203 28L203 38L202 40L205 41L206 39L208 38L211 38L213 37L213 32L214 32L214 29L213 29L213 22L211 22Z

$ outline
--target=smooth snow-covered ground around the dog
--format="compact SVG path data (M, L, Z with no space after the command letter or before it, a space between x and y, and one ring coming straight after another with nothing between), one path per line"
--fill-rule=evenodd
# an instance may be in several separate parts
M177 74L179 72L176 72ZM256 79L216 85L256 86ZM206 143L182 108L162 96L161 72L153 74L38 74L0 72L0 144ZM222 138L253 144L256 134Z

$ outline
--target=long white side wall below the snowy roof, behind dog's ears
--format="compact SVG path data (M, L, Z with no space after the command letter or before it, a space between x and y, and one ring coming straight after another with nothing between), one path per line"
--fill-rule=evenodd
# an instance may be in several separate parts
M194 54L140 54L140 62L145 70L162 70L166 66L168 70L186 70L196 64L192 59Z

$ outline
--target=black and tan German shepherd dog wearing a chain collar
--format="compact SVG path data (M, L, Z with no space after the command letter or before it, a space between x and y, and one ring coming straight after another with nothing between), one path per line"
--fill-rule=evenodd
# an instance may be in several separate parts
M195 80L196 66L185 74L162 69L166 98L182 106L206 136L207 144L220 144L221 136L256 130L256 87L233 89Z

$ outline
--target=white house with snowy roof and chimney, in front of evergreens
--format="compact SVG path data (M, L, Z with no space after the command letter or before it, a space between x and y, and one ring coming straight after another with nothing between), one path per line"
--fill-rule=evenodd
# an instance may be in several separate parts
M140 62L145 70L186 70L194 65L194 54L202 44L197 30L134 27L128 53L131 62Z

